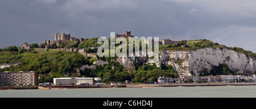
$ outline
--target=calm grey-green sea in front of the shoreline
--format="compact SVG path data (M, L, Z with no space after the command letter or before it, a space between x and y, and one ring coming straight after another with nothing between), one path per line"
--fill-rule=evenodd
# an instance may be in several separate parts
M0 90L0 98L225 98L256 97L256 86Z

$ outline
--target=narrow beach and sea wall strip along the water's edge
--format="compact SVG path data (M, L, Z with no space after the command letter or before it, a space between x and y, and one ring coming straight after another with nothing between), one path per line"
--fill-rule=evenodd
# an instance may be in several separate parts
M195 87L195 86L256 86L256 83L171 83L171 84L136 84L136 85L101 85L101 86L32 86L0 87L0 90L51 90L51 89L85 89L85 88L142 88L142 87Z

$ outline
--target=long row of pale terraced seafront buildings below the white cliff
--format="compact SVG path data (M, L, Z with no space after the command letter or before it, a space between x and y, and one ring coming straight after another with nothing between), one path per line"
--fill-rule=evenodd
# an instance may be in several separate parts
M159 77L158 83L183 83L183 82L215 82L215 83L224 83L224 82L256 82L255 75L253 76L189 76L184 78L171 78L171 77Z

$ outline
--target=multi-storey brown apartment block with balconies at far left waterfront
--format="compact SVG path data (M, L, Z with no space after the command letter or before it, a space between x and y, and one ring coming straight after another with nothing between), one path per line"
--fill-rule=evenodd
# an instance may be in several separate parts
M31 72L1 72L0 85L38 85L38 74Z

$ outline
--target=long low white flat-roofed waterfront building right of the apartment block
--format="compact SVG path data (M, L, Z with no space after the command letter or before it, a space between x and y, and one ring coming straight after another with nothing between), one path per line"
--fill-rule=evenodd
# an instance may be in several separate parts
M93 85L93 78L53 78L54 85Z

